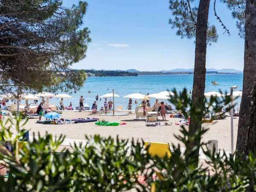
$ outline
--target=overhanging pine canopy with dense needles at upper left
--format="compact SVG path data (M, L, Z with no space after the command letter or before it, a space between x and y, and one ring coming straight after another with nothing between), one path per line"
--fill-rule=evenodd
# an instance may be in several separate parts
M66 8L61 0L0 0L1 84L82 86L84 73L70 67L85 58L90 42L89 29L80 29L86 9L82 1Z

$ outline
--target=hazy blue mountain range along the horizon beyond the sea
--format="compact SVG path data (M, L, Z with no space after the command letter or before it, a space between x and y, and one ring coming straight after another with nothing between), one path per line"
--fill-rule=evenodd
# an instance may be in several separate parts
M93 71L96 71L95 69L90 69L90 70L93 70ZM135 70L135 69L129 69L129 70L100 70L100 71L126 71L126 72L140 72L138 70ZM169 72L193 72L194 69L183 69L183 68L179 68L179 69L173 69L173 70L162 70L162 71L159 71L159 72L162 72L162 73L169 73ZM217 70L217 69L214 69L214 68L210 68L210 69L206 69L207 72L209 71L217 71L218 73L243 73L243 71L241 70L235 70L235 69L220 69L220 70Z

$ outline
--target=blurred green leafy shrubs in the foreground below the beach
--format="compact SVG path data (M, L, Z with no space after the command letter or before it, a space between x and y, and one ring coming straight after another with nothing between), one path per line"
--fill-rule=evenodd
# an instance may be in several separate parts
M202 118L209 110L205 106L194 108L186 90L174 93L171 102L185 116ZM222 104L229 102L229 97L212 97L208 103L216 103L214 111L219 111ZM206 104L206 99L200 103ZM184 108L188 106L191 109L187 112ZM1 121L0 136L10 138L12 131L19 126L22 128L26 121L17 116ZM233 154L211 154L206 143L189 149L190 144L205 132L207 129L203 128L190 134L187 128L181 126L176 138L186 146L186 151L181 152L180 145L172 145L172 156L163 158L151 157L146 152L149 146L144 148L142 140L128 141L95 135L86 137L86 144L75 145L72 151L57 152L64 136L54 140L48 133L44 137L38 135L38 139L27 143L20 150L20 155L0 154L10 166L9 179L6 181L0 177L0 191L119 192L134 189L151 192L244 192L250 183L255 186L254 154L249 153L244 160L240 157L234 160ZM18 134L13 138L12 143L20 136ZM197 148L204 150L208 168L195 165L198 156L193 151ZM145 176L147 185L139 182L140 176ZM152 180L152 176L157 176L156 180Z

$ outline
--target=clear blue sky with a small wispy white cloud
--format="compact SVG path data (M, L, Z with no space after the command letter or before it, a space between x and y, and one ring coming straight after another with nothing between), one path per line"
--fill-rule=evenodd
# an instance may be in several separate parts
M197 1L197 0L196 0ZM79 0L63 0L64 6ZM226 6L216 1L216 11L230 30L230 37L214 16L210 2L209 23L219 35L207 47L206 68L243 70L244 39L239 38L236 20ZM73 69L140 71L194 68L194 40L180 39L171 29L169 0L87 0L82 27L90 29L91 43L86 58Z

